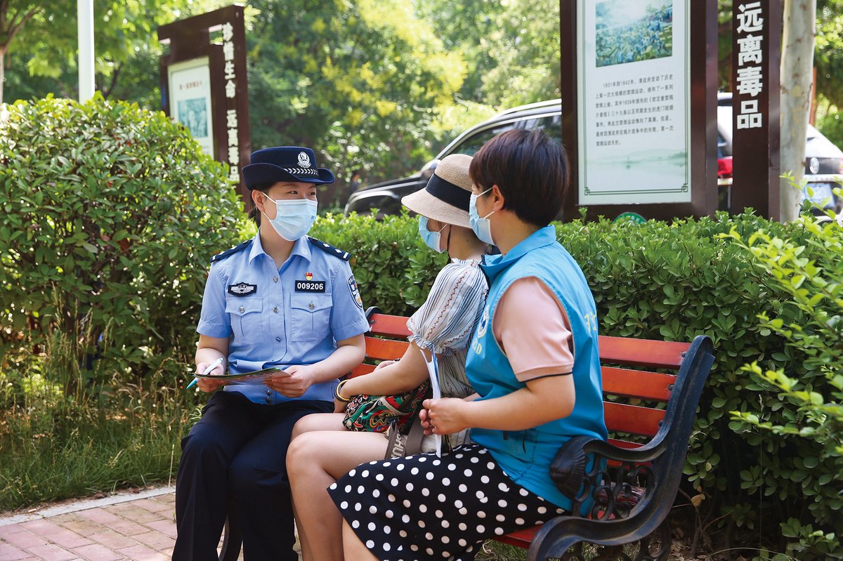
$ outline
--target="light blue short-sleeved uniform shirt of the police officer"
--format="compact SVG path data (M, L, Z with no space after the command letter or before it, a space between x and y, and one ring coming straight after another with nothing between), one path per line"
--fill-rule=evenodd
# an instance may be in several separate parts
M261 247L259 232L212 259L196 331L228 338L228 368L233 374L324 360L336 350L336 341L369 329L347 255L303 236L276 269ZM297 399L331 401L337 383L314 384ZM243 393L255 403L291 399L262 380L224 389Z

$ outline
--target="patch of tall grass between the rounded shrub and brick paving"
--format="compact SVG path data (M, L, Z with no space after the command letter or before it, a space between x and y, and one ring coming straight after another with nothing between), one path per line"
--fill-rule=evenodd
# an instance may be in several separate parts
M193 393L172 373L109 376L58 343L0 361L0 511L175 482Z

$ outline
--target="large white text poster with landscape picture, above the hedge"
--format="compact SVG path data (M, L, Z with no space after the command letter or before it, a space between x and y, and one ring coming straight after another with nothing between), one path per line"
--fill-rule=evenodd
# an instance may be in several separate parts
M690 0L577 0L578 204L690 203Z

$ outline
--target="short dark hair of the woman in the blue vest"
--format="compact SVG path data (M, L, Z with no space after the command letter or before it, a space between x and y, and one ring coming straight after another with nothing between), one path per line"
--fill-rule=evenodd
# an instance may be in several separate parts
M545 227L556 218L568 187L565 150L541 129L514 129L481 147L469 166L481 191L497 185L504 208L524 222Z

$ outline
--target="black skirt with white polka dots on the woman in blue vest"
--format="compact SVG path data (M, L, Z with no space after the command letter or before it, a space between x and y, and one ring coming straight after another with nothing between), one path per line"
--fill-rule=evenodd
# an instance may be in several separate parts
M484 540L561 514L513 483L477 444L364 463L328 489L357 537L381 561L475 557Z

